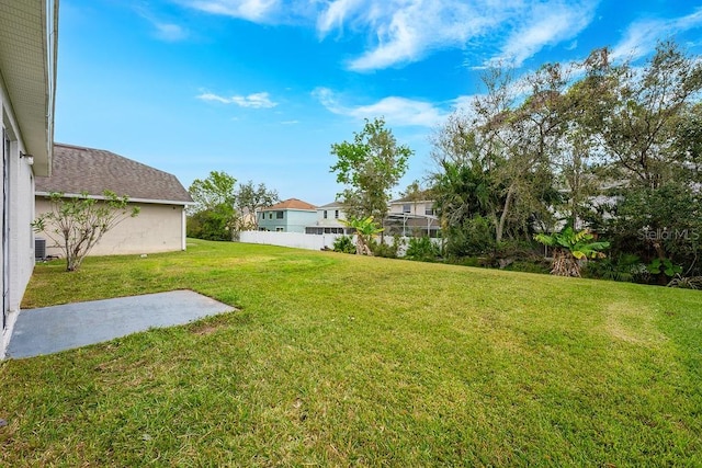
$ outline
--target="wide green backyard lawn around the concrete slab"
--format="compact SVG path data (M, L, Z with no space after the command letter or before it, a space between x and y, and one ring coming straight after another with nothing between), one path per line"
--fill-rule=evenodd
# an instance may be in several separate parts
M700 292L191 242L37 265L25 308L239 310L2 362L1 466L702 464Z

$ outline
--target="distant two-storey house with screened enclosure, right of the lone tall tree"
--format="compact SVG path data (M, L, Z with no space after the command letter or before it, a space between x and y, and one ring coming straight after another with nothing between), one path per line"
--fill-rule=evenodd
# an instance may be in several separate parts
M416 237L438 237L441 228L434 213L434 202L411 197L392 201L383 226L387 235Z

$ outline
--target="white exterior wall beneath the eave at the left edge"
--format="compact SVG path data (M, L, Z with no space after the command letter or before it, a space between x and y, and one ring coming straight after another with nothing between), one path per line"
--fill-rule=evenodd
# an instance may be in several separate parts
M25 149L18 137L20 135L18 123L1 78L0 109L0 155L2 155L0 178L2 192L7 197L7 203L0 202L2 204L0 220L4 219L8 224L8 228L3 229L3 248L0 249L2 289L5 296L2 304L3 317L0 320L2 329L0 358L2 358L20 311L20 301L34 269L34 237L30 226L34 216L34 175L27 160L20 158L20 152L24 152ZM5 144L5 137L9 144Z

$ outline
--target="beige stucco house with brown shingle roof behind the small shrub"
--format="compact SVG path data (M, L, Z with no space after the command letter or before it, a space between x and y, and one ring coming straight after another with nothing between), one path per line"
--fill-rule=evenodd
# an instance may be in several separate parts
M102 149L54 145L52 175L36 178L36 216L50 209L52 192L66 196L87 192L104 199L105 190L128 196L129 205L140 212L107 231L91 255L185 250L185 206L193 201L183 185L174 175ZM47 254L61 254L48 235L36 237L46 239Z

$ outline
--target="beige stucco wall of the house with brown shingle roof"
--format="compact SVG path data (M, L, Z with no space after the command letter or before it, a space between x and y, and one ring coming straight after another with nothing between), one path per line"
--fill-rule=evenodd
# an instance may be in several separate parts
M90 255L141 254L184 250L183 206L137 204L141 210L135 218L127 218L107 231L90 252ZM36 216L48 212L48 199L36 197ZM46 239L49 255L63 256L46 232L36 233ZM56 235L54 235L56 237Z

